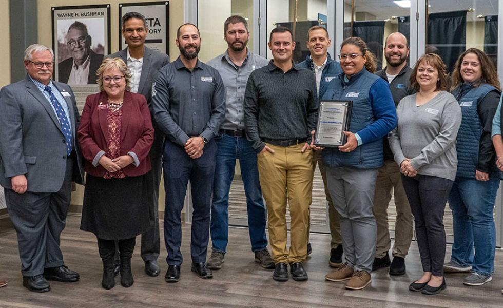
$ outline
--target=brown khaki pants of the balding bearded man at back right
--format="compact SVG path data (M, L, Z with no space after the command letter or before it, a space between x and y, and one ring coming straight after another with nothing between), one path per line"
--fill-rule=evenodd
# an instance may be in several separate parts
M405 258L409 252L413 235L413 220L411 207L400 176L400 167L392 161L384 161L377 174L376 191L374 195L374 216L377 222L376 258L382 258L390 250L391 239L388 225L388 204L391 200L391 188L395 192L396 223L393 256Z

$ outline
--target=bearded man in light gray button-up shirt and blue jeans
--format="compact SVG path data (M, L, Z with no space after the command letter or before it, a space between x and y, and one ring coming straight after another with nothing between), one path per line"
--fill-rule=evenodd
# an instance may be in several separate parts
M224 40L229 47L207 63L219 71L227 93L225 120L215 138L218 151L211 204L210 230L213 246L207 262L210 269L220 269L224 262L228 243L229 190L234 178L236 159L239 159L246 194L251 251L255 254L255 261L262 267L274 268L274 261L267 251L266 211L260 189L257 155L246 139L243 119L244 91L248 76L256 68L266 66L268 61L248 50L248 38L246 20L241 16L230 16L224 23Z

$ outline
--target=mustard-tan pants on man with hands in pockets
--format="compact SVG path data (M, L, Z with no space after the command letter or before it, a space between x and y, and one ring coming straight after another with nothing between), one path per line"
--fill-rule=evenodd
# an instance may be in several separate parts
M267 206L269 243L274 262L302 262L307 256L307 226L312 202L312 151L304 143L289 147L267 144L274 153L257 155L260 186ZM290 211L290 249L287 251L286 201Z

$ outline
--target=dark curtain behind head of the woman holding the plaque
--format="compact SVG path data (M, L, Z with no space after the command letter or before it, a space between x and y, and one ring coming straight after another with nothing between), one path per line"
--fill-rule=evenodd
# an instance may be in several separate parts
M382 69L382 48L384 47L384 21L358 21L353 23L353 33L351 33L351 23L344 24L344 36L360 37L377 58L377 70Z

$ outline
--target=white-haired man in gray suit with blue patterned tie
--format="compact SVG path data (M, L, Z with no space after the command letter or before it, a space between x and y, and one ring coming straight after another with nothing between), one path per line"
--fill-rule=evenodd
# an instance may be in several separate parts
M47 292L47 280L79 280L60 249L71 182L84 182L75 141L79 112L71 88L51 81L52 49L30 45L24 64L26 78L0 91L0 185L17 233L23 286Z

